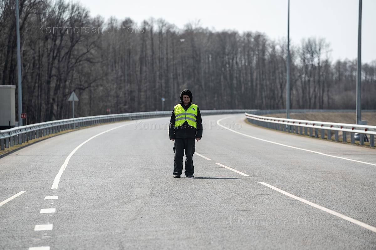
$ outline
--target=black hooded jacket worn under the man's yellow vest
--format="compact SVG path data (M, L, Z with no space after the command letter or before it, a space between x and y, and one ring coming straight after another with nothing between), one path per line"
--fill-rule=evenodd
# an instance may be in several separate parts
M190 103L188 105L184 105L183 102L183 95L188 95L191 99ZM186 111L190 105L192 104L192 93L189 89L183 89L182 93L180 93L180 105L184 108ZM197 117L196 117L196 123L197 123L197 128L191 126L188 124L187 121L183 123L182 126L175 127L175 113L174 110L172 111L171 114L171 119L170 119L170 140L171 139L178 139L178 138L202 138L202 118L201 118L201 113L200 113L200 108L197 107Z

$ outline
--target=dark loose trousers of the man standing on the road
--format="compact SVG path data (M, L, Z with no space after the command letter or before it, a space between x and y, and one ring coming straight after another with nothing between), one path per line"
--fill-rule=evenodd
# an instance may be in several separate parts
M194 138L179 138L174 141L174 175L182 175L183 172L183 156L185 152L185 176L193 175L193 159L192 156L196 151Z

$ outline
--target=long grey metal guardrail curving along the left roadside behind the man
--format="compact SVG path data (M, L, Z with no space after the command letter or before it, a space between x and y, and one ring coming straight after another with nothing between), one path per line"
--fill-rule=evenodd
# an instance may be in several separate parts
M201 114L233 114L244 113L256 110L201 110ZM151 117L169 116L171 111L152 111L152 112L137 112L124 114L109 114L102 116L88 116L77 117L73 119L54 120L50 122L41 122L30 124L21 127L15 127L8 130L0 130L0 150L12 147L14 145L21 145L39 137L49 136L65 130L72 130L81 127L97 125L99 123L117 122L121 120L134 120Z

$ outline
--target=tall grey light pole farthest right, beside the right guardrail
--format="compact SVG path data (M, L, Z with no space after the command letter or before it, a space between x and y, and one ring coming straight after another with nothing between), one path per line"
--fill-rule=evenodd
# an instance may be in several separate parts
M362 86L362 0L359 0L359 22L358 22L358 65L356 67L356 124L360 124L362 120L362 102L361 102L361 86Z

